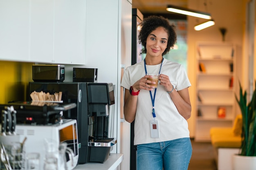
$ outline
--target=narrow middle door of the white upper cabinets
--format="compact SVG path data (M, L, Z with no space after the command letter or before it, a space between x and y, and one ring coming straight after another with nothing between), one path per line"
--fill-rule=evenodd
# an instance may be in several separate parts
M30 20L30 61L52 62L54 1L32 0Z

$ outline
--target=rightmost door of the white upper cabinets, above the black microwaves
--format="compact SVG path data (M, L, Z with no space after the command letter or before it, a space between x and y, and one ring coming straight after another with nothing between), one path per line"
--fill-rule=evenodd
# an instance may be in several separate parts
M54 63L85 64L85 9L85 0L55 0Z

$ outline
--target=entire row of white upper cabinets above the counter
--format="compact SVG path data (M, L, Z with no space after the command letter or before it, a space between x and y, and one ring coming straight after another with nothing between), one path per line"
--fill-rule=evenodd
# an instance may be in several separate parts
M85 64L84 0L0 0L0 60Z

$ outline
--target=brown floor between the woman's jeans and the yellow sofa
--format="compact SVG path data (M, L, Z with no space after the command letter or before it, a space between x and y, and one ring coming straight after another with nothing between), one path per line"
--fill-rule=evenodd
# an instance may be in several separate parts
M188 170L217 170L216 162L213 157L213 148L210 142L192 143L192 157Z

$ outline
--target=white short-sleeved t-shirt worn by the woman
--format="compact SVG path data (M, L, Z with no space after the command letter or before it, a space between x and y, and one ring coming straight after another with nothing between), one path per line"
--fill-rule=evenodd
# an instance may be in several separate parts
M160 66L161 64L146 65L147 73L159 73ZM191 86L186 71L181 64L164 59L160 74L168 75L170 82L177 91ZM130 86L144 75L146 75L146 72L143 60L126 68L121 86L130 89ZM155 91L151 92L152 97L154 97ZM156 120L159 121L160 138L151 138L150 136L150 120L153 120L152 109L149 91L140 90L134 125L135 145L189 137L186 119L180 115L164 86L159 84L155 95L155 114Z

